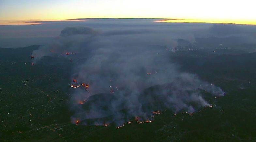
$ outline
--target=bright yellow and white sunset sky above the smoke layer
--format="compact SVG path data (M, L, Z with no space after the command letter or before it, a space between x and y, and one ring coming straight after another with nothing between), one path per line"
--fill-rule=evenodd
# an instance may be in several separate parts
M74 18L178 18L160 22L256 24L255 3L253 0L0 0L0 25Z

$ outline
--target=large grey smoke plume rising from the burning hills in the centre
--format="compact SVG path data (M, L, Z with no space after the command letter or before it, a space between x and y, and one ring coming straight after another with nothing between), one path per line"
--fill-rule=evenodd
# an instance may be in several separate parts
M120 126L135 117L151 120L153 111L164 109L192 113L209 106L204 92L224 94L194 74L181 73L171 62L169 48L180 37L193 42L191 33L156 31L65 28L60 37L33 52L34 62L59 53L72 58L77 84L89 85L71 90L70 108L75 111L71 119L82 124Z

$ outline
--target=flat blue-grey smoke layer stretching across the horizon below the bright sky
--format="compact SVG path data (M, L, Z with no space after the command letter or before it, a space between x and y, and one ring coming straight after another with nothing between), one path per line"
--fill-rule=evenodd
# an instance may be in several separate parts
M42 23L37 26L0 26L0 47L23 47L31 44L48 44L49 41L55 36L60 35L63 30L62 36L70 36L74 34L85 35L86 33L94 33L90 29L84 28L84 25L93 27L104 34L105 36L112 35L125 35L125 34L159 34L168 37L180 39L187 39L188 34L193 39L197 38L211 38L217 37L225 41L225 38L231 39L223 46L228 48L237 48L238 44L256 44L256 26L255 25L238 25L238 24L213 24L213 23L158 23L161 19L123 19L123 18L89 18L79 19L79 21L31 21L30 23ZM75 27L75 28L74 28ZM74 28L73 30L70 30ZM82 28L82 29L81 29ZM74 33L73 33L74 32ZM95 34L95 33L94 33ZM96 33L97 34L97 33ZM183 38L185 36L185 38ZM168 39L170 41L170 39ZM210 39L212 42L201 47L212 47L214 43L218 42ZM199 40L196 40L199 41ZM234 43L239 41L239 43ZM218 45L217 44L217 45ZM254 45L255 46L255 45ZM214 47L216 47L214 45ZM242 47L242 46L240 46ZM221 48L223 48L221 46Z

